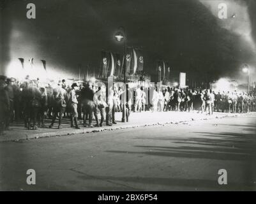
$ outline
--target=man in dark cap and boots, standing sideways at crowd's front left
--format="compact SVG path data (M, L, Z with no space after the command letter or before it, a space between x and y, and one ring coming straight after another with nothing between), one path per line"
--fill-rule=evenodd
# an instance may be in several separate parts
M77 125L77 117L79 116L79 113L77 112L77 104L79 101L77 101L77 96L75 94L75 91L79 89L79 86L77 83L73 83L71 85L72 91L70 91L70 108L71 108L71 127L74 127L74 121L75 121L75 129L80 129Z

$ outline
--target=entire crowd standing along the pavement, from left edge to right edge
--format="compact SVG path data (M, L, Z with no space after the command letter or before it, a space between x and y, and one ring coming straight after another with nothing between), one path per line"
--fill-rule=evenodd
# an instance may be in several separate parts
M153 89L153 90L152 90ZM101 127L116 124L115 113L126 108L125 120L130 112L177 111L202 112L213 114L218 112L246 113L255 112L255 93L215 92L209 90L176 89L174 87L140 87L128 89L126 104L123 106L122 87L114 85L106 93L106 89L91 82L66 85L59 81L56 87L51 84L42 85L39 78L17 82L15 78L0 77L0 131L10 129L13 121L24 121L27 129L46 127L45 119L50 119L48 128L52 128L58 119L57 128L61 128L63 117L70 119L70 126L79 128L78 119L83 126ZM99 116L100 115L100 120Z

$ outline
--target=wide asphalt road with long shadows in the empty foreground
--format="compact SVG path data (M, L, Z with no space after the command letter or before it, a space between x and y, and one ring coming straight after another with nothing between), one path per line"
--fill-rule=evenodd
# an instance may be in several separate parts
M251 114L0 143L0 190L255 191L255 133Z

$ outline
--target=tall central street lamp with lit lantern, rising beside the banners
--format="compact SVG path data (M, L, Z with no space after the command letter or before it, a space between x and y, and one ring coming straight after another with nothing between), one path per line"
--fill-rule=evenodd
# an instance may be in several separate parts
M126 43L127 43L127 37L124 30L124 27L119 27L119 31L115 34L115 38L117 41L123 41L124 40L124 103L123 103L123 113L122 113L122 122L126 122L126 63L125 63L125 57L126 57Z

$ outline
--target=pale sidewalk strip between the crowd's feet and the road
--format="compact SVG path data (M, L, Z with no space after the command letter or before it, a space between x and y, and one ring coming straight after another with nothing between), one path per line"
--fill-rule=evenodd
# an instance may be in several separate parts
M19 141L19 140L29 140L33 138L42 138L50 136L63 136L63 135L73 135L77 133L94 133L100 131L111 131L114 129L124 129L124 128L136 128L142 126L154 126L163 124L178 124L182 122L189 122L194 120L207 120L222 117L235 117L241 114L232 113L218 113L215 112L213 115L206 115L201 113L188 113L188 112L162 112L162 113L152 113L152 112L141 112L141 113L131 113L130 122L121 122L122 113L116 113L116 125L103 126L100 128L84 128L82 126L82 120L79 120L79 127L81 129L70 128L70 120L63 120L63 128L57 129L56 124L52 129L50 128L38 128L36 130L27 130L24 128L23 124L17 123L11 126L10 131L4 131L4 135L0 136L0 142L9 141ZM244 114L242 114L244 115ZM50 120L47 120L46 126L49 126ZM93 121L95 124L95 121Z

